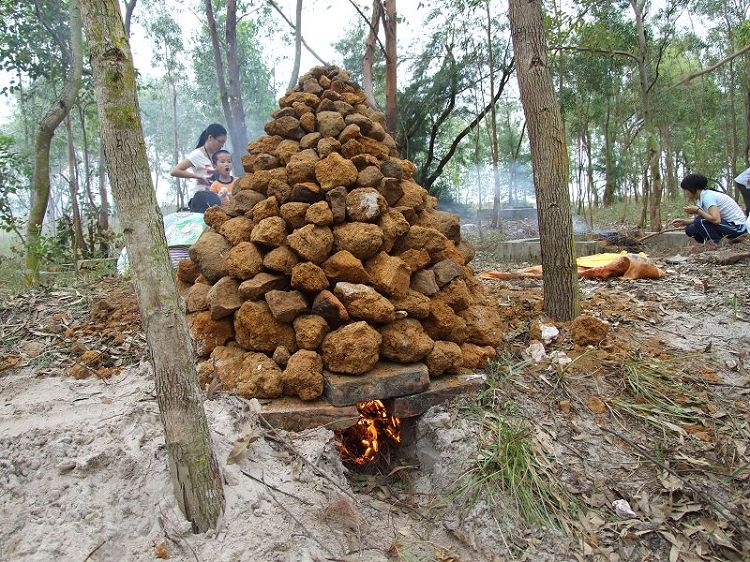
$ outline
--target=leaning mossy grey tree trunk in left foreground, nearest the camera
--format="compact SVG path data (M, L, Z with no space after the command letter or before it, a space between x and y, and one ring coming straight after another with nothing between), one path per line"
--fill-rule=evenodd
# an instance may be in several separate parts
M130 46L116 0L83 0L82 6L107 170L135 273L172 486L193 530L205 532L219 521L224 492L149 173Z

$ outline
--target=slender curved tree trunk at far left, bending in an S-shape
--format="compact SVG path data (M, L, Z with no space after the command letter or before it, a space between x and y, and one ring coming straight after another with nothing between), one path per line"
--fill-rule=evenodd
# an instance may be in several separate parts
M62 94L50 106L39 122L34 143L34 172L32 174L31 209L26 225L26 279L34 283L39 279L39 237L44 215L49 203L49 154L55 129L70 112L81 87L83 54L81 51L81 10L78 0L70 2L70 52L71 68L66 73Z

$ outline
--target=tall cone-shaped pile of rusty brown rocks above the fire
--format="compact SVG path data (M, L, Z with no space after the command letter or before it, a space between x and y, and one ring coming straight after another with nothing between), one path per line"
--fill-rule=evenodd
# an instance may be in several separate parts
M279 105L178 268L203 382L342 406L493 356L500 322L474 251L412 180L383 113L336 67Z

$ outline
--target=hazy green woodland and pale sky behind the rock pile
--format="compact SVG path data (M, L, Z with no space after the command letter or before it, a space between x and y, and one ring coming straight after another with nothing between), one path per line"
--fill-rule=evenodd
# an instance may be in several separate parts
M39 124L56 107L64 79L74 75L68 70L72 5L0 1L0 88L13 107L0 132L11 139L8 150L21 174L33 171L34 158L44 154L34 146ZM176 6L172 0L141 0L122 8L138 42L149 47L138 94L151 175L165 206L184 206L186 186L168 170L208 123L229 125L237 154L245 139L262 134L298 52L301 71L320 60L343 64L356 81L372 82L379 107L389 107L383 27L389 12L383 0L342 0L330 9L262 0L188 0ZM209 8L213 18L207 17ZM388 8L392 12L393 5ZM570 147L574 212L590 223L597 209L611 209L605 212L610 218L656 229L676 207L684 173L701 171L731 188L731 179L750 165L750 0L669 0L658 6L586 0L549 8L544 22ZM504 4L435 0L396 9L394 133L401 153L417 164L418 181L485 223L497 224L502 207L533 204L528 127L513 86ZM323 33L321 22L343 10L351 14L346 24ZM379 39L371 33L373 14ZM691 26L691 18L701 26ZM371 78L364 72L368 52ZM16 241L23 238L25 248L34 246L41 256L66 248L58 257L63 261L104 255L113 236L87 58L81 75L69 122L61 120L50 136L48 204L40 205L44 188L24 176L13 193L4 182L9 196L0 210L6 229L11 215L22 218L13 223L17 232L9 229ZM41 197L32 197L36 192ZM38 205L33 212L32 203ZM29 245L28 229L42 224L40 214L44 228Z

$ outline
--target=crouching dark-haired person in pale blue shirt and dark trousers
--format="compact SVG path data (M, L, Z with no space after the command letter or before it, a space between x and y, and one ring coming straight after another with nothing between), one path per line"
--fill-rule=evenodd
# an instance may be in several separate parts
M701 174L688 174L680 187L694 205L684 211L695 215L693 220L675 219L674 226L684 226L685 234L698 242L718 243L722 238L737 238L747 233L747 217L729 195L708 189L708 179Z

